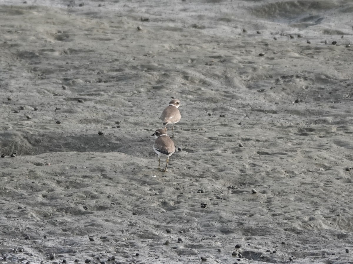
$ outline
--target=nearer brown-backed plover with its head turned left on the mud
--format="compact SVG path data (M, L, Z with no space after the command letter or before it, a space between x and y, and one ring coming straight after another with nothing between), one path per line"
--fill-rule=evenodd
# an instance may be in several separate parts
M172 139L167 135L164 129L157 129L152 136L156 137L155 143L153 144L153 149L158 155L158 170L161 169L161 157L167 159L166 168L163 171L167 171L167 166L169 162L169 157L175 152L175 146Z

